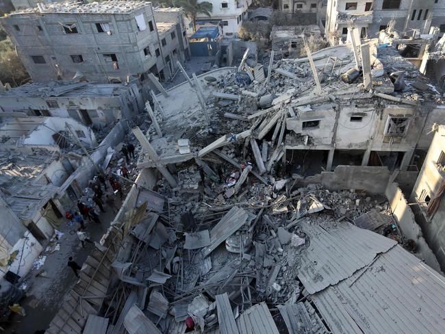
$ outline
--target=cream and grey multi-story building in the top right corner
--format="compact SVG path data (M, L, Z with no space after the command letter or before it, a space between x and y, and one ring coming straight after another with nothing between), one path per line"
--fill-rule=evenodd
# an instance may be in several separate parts
M394 20L396 31L417 29L428 34L431 26L445 31L445 0L328 0L325 33L331 43L346 40L348 21L361 36L374 38Z

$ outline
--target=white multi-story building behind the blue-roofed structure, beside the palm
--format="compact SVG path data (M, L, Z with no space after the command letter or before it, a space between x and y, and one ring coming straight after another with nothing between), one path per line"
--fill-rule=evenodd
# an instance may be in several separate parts
M252 0L205 0L212 3L212 16L198 14L196 29L199 26L216 25L221 27L225 36L236 36L242 22L247 19L247 8L252 4ZM202 1L199 1L202 2ZM193 34L193 25L189 24L188 32Z

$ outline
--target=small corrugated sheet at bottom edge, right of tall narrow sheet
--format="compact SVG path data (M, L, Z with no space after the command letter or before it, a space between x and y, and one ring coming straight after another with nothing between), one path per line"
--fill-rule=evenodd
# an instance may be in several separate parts
M253 305L237 319L240 334L279 334L266 303Z

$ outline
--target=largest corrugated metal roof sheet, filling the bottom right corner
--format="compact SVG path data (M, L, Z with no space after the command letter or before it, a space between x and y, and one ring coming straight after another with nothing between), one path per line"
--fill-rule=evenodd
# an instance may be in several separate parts
M401 246L312 299L333 333L445 333L445 278Z

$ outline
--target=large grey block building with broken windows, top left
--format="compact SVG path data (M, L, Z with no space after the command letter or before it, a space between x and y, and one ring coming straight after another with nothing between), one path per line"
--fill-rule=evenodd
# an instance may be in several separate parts
M183 61L177 25L157 31L149 2L38 3L1 18L33 81L84 77L124 82L129 77L169 77ZM181 34L181 40L182 34ZM168 44L168 47L167 47ZM168 50L167 50L168 49Z

